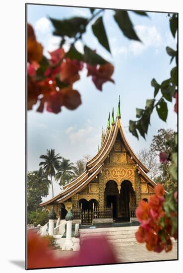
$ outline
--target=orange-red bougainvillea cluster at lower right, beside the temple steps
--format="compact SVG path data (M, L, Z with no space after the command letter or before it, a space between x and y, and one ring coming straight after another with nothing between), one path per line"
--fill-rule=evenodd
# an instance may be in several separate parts
M163 205L165 202L165 190L161 184L157 184L155 195L149 198L148 203L140 201L136 208L136 217L140 222L138 231L135 233L136 240L139 243L146 243L146 248L150 251L166 252L172 249L172 220L166 215ZM171 216L176 212L172 212ZM160 221L163 219L164 224ZM174 231L175 239L177 239L177 231Z

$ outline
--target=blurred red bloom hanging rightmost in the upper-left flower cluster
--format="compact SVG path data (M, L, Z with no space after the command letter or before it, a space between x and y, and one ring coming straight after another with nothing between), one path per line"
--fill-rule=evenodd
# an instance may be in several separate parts
M114 80L111 78L114 72L114 66L112 64L105 64L98 66L87 65L88 74L87 76L92 76L92 81L96 88L102 91L103 83Z

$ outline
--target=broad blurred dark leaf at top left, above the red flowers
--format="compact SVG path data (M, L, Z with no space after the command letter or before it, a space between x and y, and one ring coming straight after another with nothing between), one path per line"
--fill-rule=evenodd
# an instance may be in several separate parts
M78 32L85 32L88 22L88 19L83 17L72 17L64 20L50 18L50 20L55 27L54 35L68 36L69 38L75 37Z

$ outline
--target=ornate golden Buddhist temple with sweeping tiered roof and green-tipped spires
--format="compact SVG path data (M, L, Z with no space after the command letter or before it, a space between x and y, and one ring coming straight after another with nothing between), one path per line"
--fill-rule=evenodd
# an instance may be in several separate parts
M131 221L140 200L147 202L154 194L156 184L148 171L124 136L119 99L117 117L113 109L106 132L102 129L101 147L83 174L40 205L54 208L61 219L71 209L81 224Z

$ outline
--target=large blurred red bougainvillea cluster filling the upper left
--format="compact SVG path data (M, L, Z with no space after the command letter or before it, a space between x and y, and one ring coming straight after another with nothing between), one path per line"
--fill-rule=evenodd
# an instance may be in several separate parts
M50 59L43 56L43 47L37 42L33 27L28 24L27 31L27 89L28 110L39 102L38 112L59 113L61 107L76 109L81 104L81 96L74 90L73 83L80 79L79 71L84 67L83 61L68 58L63 48L49 52ZM84 58L83 58L84 60ZM95 86L102 90L111 78L114 66L107 63L101 66L87 64L88 76L92 75Z

